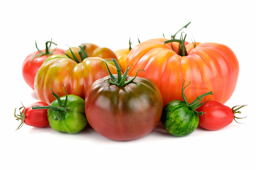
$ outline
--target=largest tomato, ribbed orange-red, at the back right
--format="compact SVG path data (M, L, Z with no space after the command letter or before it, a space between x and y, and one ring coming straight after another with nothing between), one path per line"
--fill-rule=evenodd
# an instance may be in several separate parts
M213 91L203 101L225 103L234 92L239 64L233 51L218 43L164 43L165 38L147 40L135 46L129 53L126 64L133 65L128 75L152 80L160 89L163 104L182 100L183 79L191 82L186 94L189 102L195 96ZM185 40L184 40L185 41ZM196 46L194 48L194 45ZM173 48L172 48L173 46ZM183 49L179 48L183 47Z

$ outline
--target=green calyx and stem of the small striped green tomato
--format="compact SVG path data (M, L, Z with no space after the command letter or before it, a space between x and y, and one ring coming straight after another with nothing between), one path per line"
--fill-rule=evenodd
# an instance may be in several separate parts
M196 98L196 100L194 100L192 103L189 103L188 100L187 100L187 98L186 98L186 96L185 96L185 94L184 94L184 89L185 89L186 87L188 87L188 86L191 84L191 82L190 82L186 87L183 88L184 83L185 83L185 80L183 79L183 84L182 84L182 98L183 98L183 100L185 101L185 103L188 105L188 107L189 107L191 110L193 110L194 112L196 112L198 115L202 116L204 112L202 112L202 111L199 112L199 111L197 111L196 109L199 108L200 106L202 106L203 104L205 104L208 100L207 100L206 102L203 102L203 103L200 103L200 102L204 99L205 96L210 95L210 94L213 94L213 92L211 91L211 92L208 92L208 93L204 93L204 94L198 96L198 97ZM210 99L209 99L209 100L210 100Z

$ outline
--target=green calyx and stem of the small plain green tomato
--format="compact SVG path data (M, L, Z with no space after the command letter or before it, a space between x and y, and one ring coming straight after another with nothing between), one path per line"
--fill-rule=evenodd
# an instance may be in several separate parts
M63 87L64 87L64 84L63 84ZM65 87L64 87L64 89L65 89ZM67 91L66 91L66 89L65 89L65 93L66 93L65 102L62 103L61 100L60 100L60 97L56 93L54 93L53 90L52 90L52 95L54 97L56 97L56 99L58 101L58 106L52 106L52 105L49 105L49 106L32 106L32 109L33 110L35 110L35 109L51 110L53 115L55 116L55 118L53 118L53 116L51 114L49 114L51 119L56 120L56 121L57 120L63 120L65 118L65 113L69 110L68 108L66 108L66 106L67 106Z

